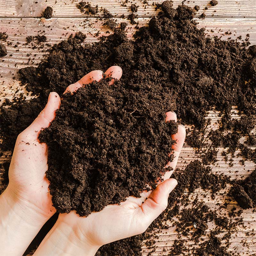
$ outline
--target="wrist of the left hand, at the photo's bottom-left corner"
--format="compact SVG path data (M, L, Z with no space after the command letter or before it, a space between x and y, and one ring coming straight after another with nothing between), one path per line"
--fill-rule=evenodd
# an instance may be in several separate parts
M30 205L20 200L10 188L0 196L1 255L22 255L46 220L35 216ZM15 242L13 242L15 241Z

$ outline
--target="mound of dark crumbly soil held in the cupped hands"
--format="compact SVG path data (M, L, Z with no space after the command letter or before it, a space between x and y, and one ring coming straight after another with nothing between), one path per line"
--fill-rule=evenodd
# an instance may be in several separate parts
M177 123L165 122L174 107L158 86L133 90L108 79L66 93L50 127L39 140L48 145L52 202L58 212L80 216L140 197L172 161L171 135Z

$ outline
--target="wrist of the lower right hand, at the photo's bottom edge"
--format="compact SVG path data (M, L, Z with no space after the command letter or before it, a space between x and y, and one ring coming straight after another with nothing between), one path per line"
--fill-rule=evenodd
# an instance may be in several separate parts
M62 221L62 218L58 218L34 256L94 256L100 246L92 244L81 229L78 225L70 225L70 223Z

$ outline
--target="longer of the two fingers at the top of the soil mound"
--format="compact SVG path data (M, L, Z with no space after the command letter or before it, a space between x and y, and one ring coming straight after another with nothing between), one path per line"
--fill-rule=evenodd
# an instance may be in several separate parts
M93 81L99 82L103 78L103 72L101 70L93 70L87 75L83 76L79 81L75 84L70 84L64 93L66 92L76 92L76 90L82 87L84 84L90 84ZM63 94L64 94L63 93Z

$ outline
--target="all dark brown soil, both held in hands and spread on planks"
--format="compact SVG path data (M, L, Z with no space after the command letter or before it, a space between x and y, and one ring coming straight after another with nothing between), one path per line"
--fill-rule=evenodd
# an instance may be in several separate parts
M85 8L89 9L89 6ZM80 214L87 215L93 207L101 209L108 203L119 202L125 195L136 195L136 192L138 193L145 186L144 182L146 180L152 182L160 174L160 169L167 160L167 149L172 144L171 141L163 141L162 138L159 138L159 133L156 132L156 129L160 129L159 131L165 134L165 138L168 138L167 131L170 127L168 126L169 124L164 122L164 112L168 110L174 110L178 119L183 124L192 125L192 128L189 130L190 134L187 136L187 143L196 147L198 152L201 152L201 148L206 146L204 135L208 125L208 121L205 119L207 112L212 109L220 111L220 127L215 131L211 131L208 136L210 141L212 141L211 146L227 148L222 153L226 160L228 160L228 154L234 157L236 150L239 149L244 159L256 161L256 151L239 141L241 136L249 135L246 143L251 145L256 142L255 134L252 132L252 129L255 127L256 115L256 47L252 45L246 49L246 46L250 44L248 41L239 43L236 40L223 41L218 37L206 36L205 29L198 29L196 22L192 20L195 15L194 10L186 5L179 5L174 9L172 8L172 1L165 1L161 8L162 12L149 21L148 27L138 29L133 40L127 39L124 24L120 28L116 27L114 34L102 36L100 41L94 44L81 45L85 40L85 35L77 33L74 37L71 36L68 40L55 44L38 67L20 69L22 83L26 85L28 91L38 95L38 97L29 102L23 99L16 99L15 104L10 104L7 100L6 104L11 106L9 108L1 107L1 138L3 139L2 148L4 150L12 150L17 135L31 124L43 109L51 91L62 94L69 84L75 83L86 73L95 69L106 70L111 65L119 65L123 69L122 78L113 86L108 87L106 81L102 81L90 84L88 87L78 90L74 95L65 95L61 108L57 112L56 120L52 122L49 129L45 129L40 135L42 140L52 143L52 147L49 148L49 172L47 176L50 180L52 179L50 189L53 197L57 199L54 204L57 208L59 207L59 211L69 211L73 207ZM104 9L103 12L104 19L109 20L113 18L113 15L107 10ZM134 20L136 17L135 13L130 14L132 23L136 23ZM106 91L102 92L101 87L106 88ZM113 88L116 87L116 91L113 91ZM106 95L106 93L109 94ZM95 104L88 106L89 102L83 98L83 95L91 97L93 94L95 97L98 97L96 99L102 99L99 101L100 107L97 109L98 111L94 111L94 113L92 112ZM103 98L104 95L107 97ZM152 97L145 98L146 95L152 95ZM118 97L116 98L116 96ZM124 97L127 100L124 100ZM141 102L139 98L141 98ZM132 101L129 101L129 99ZM79 112L80 106L76 104L76 100L82 100L88 106L88 115L85 108L80 111L81 113ZM128 104L127 106L122 105L124 101ZM119 105L120 102L121 104ZM149 105L144 106L145 102L148 102ZM121 106L124 107L123 111L126 110L124 112L125 119L115 119L118 116L120 117ZM128 106L129 109L125 108ZM239 113L242 114L240 120L233 120L231 118L232 106L237 106ZM72 109L69 107L72 107ZM159 111L156 111L156 107ZM146 109L148 109L148 112L145 111ZM72 119L71 111L79 119ZM157 118L153 116L153 113L156 112L160 113L160 116L157 116ZM113 113L118 114L115 116ZM130 115L130 113L132 114ZM151 114L152 116L150 116ZM97 115L99 115L99 119L96 119ZM143 115L147 118L144 119ZM107 118L105 118L106 116ZM66 123L63 121L61 123L61 118ZM149 120L147 121L148 118ZM77 133L77 127L81 125L77 120L84 124L82 129L86 132L86 138L83 137L81 139L80 131ZM88 124L85 120L89 122L95 120L90 126L90 129L93 127L94 134L89 129L86 130L86 127L88 127L86 125ZM141 131L138 129L138 131L135 131L135 128L134 131L132 130L133 125L134 127L145 128L146 126L143 122L149 122L147 130ZM56 127L56 124L60 123L62 128ZM70 129L66 129L68 125L71 125ZM151 128L150 132L149 128ZM129 147L122 148L121 145L116 146L115 143L118 140L109 140L112 131L116 134L116 138L120 140L121 145L123 143L123 137L120 138L121 135L128 142L134 143L131 144L133 145L132 150L137 149L136 147L140 147L140 145L150 146L150 149L142 148L142 152L145 153L144 163L145 159L149 159L158 168L154 171L151 170L152 177L146 177L150 172L148 170L147 172L145 171L145 165L142 166L139 173L131 172L132 168L138 170L138 159L136 159L133 166L131 164L132 159L124 158L128 154ZM124 132L123 134L120 133L122 131ZM127 134L125 131L133 131L134 133ZM147 133L138 134L144 131ZM173 130L170 129L169 131L171 133ZM70 134L75 134L75 137L72 137L71 141L66 141L67 138L70 138L70 134L67 134L69 132ZM58 158L59 161L62 161L61 157L64 156L74 160L69 163L64 161L63 166L52 161L52 154L57 150L57 146L54 143L57 142L50 142L50 138L57 136L57 134L59 134L57 142L62 145L60 148L62 156L60 156L60 159ZM65 137L65 135L67 136ZM149 136L152 140L148 142L139 141L137 142L139 144L136 144L135 140L131 141L131 138L145 139L146 136ZM153 143L154 136L160 139L160 141L154 141L155 144ZM106 147L109 148L109 151L103 151L104 148L100 145L101 141L107 142ZM82 161L80 159L77 161L76 156L80 157L81 150L88 142L94 143L95 151L92 152L93 148L89 148L88 152L84 150L82 156L85 156L85 158ZM164 150L164 153L155 151L156 149L152 152L153 145L159 147L160 144L164 147L165 152ZM73 148L73 153L71 148L65 148L65 145ZM74 145L77 145L77 147L74 147ZM111 150L112 147L117 147L116 153ZM145 150L149 150L149 152ZM120 162L116 161L117 155L115 156L115 154L118 154L118 152L120 154ZM134 151L132 156L140 156L142 152ZM96 159L95 163L91 162L92 156L90 156L90 153L92 153L93 159ZM230 234L234 232L237 225L243 224L243 221L238 218L239 214L241 214L240 208L236 211L235 207L229 212L229 217L235 220L232 225L221 215L220 211L209 213L207 206L202 204L198 198L193 199L193 206L195 207L191 209L195 214L194 219L188 211L182 208L192 203L189 195L184 194L184 191L193 193L195 189L201 187L206 191L215 193L225 188L226 183L232 183L229 177L212 173L212 169L209 166L204 166L216 162L216 154L216 150L206 150L202 155L203 163L199 160L192 161L188 163L184 170L178 169L174 172L173 178L176 178L179 184L169 197L166 211L148 229L148 231L152 231L154 228L168 228L166 221L172 220L175 216L178 222L181 223L176 223L178 237L185 235L188 238L194 239L195 243L199 246L199 248L196 246L189 248L189 251L192 253L191 255L205 255L205 253L210 255L213 252L215 255L234 255L234 253L227 251L228 247L221 246L220 239L225 240L228 244L231 237ZM159 159L154 159L154 157L159 157ZM58 159L54 161L58 161ZM107 159L112 159L113 162L108 163ZM162 162L160 159L162 159ZM125 169L124 173L122 173L119 169L122 166L121 163L129 163L132 168L123 166L122 168ZM68 164L67 169L64 169L65 164ZM88 170L86 169L86 172L82 172L81 170L84 170L86 164L89 164L89 168ZM86 175L89 173L87 171L92 171L93 164L103 167L99 168L99 170L95 169L95 176L99 176L94 180L99 183L96 184L95 182L95 184L92 184L91 182L90 187L86 190L83 185L81 186L82 180L86 182L92 181L92 177L86 177ZM232 165L232 161L230 161L230 164ZM50 166L53 169L50 169ZM75 168L72 169L71 167ZM115 169L117 170L116 176L107 177L108 173L115 173ZM69 179L66 180L66 178L60 176L60 173L56 173L56 170L59 170L60 173L65 172ZM131 173L129 174L129 172ZM130 180L124 178L122 174L129 174ZM104 187L104 193L110 197L107 198L104 197L105 195L98 194L102 201L96 202L88 199L86 195L89 191L96 189L98 185L103 184L100 183L103 181L99 180L98 177L103 177L103 180L108 181L107 186ZM252 174L250 177L244 181L240 180L237 184L235 183L235 189L233 189L231 195L236 198L241 194L244 198L250 198L248 199L248 205L255 207L254 184L256 183L253 181L253 179L255 180L255 174ZM55 178L60 178L60 182L58 183L54 180ZM138 180L139 182L137 182ZM125 187L125 182L127 182L127 187ZM131 186L128 184L129 182ZM140 187L131 189L135 183ZM58 185L60 184L61 186L64 185L64 188L59 187ZM76 189L70 189L68 187L70 185L74 185ZM121 187L118 187L119 185ZM58 190L56 195L53 191L54 188ZM72 196L70 196L71 191L74 192ZM113 197L114 191L120 192L120 195L117 193L117 197ZM68 199L58 201L58 198L62 198L60 192L63 195L67 195ZM123 192L124 194L121 195ZM79 195L83 195L83 197L79 197ZM212 196L213 200L214 195L210 196ZM239 196L239 198L241 197ZM108 199L108 202L106 202L106 199ZM229 202L225 199L225 204L220 205L220 208L226 207ZM237 202L239 203L239 200ZM234 218L235 216L236 219ZM214 229L208 236L205 230L207 229L208 221L212 220L218 225L218 228ZM185 231L181 227L186 227ZM221 231L219 227L221 227ZM192 235L189 230L193 230ZM224 232L223 230L227 232L227 235L222 235L219 238L222 232ZM195 233L195 236L193 236L193 233ZM205 241L201 238L201 235L207 236L210 240ZM217 235L218 237L216 237ZM100 248L98 255L140 255L141 246L143 245L142 241L147 238L147 233L144 233L104 245ZM174 243L172 255L188 252L188 248L186 248L182 241ZM148 241L146 245L154 251L153 241Z

